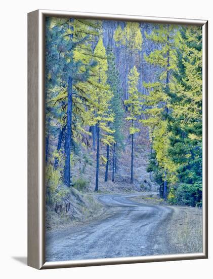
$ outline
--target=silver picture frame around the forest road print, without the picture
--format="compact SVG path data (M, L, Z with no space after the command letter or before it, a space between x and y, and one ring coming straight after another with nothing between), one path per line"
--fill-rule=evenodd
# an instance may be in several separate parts
M76 17L202 26L203 34L203 252L73 261L45 261L45 17ZM28 13L28 265L37 269L208 257L208 21L51 10Z

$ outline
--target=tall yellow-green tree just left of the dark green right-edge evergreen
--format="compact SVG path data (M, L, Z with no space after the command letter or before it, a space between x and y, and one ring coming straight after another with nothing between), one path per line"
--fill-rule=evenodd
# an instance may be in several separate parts
M164 181L163 197L167 194L167 181L174 179L174 173L169 172L174 164L168 159L168 118L171 103L171 77L176 67L175 47L177 42L177 30L174 25L156 25L147 39L156 44L156 48L149 54L144 55L145 60L161 68L157 80L152 83L144 83L149 90L149 95L144 96L148 119L143 123L150 128L150 137L153 138L153 149L155 150L158 166L162 168L162 179ZM171 175L171 176L170 176Z

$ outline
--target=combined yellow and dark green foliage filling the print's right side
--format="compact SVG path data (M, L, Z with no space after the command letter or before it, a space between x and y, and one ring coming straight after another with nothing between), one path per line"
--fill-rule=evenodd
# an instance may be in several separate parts
M154 171L159 185L166 179L171 186L169 202L194 206L202 200L201 28L159 26L147 38L160 48L145 59L162 67L155 82L144 84L149 95L143 123L155 156L147 171Z

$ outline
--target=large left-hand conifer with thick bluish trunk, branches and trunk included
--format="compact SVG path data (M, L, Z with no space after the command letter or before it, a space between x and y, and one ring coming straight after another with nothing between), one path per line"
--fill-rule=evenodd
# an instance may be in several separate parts
M87 104L90 99L80 86L89 76L92 49L89 43L97 36L100 24L96 21L74 19L50 19L48 28L49 49L47 77L57 84L52 103L60 103L64 112L64 184L70 186L70 154L74 137L82 137L80 122L88 122ZM58 85L60 84L60 85ZM74 104L74 105L73 105ZM80 122L79 122L80 121Z

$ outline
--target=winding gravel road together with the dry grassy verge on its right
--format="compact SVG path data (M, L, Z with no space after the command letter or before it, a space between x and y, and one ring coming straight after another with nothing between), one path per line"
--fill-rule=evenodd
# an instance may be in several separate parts
M202 210L157 205L150 194L154 193L97 194L104 214L48 231L46 260L201 252Z

